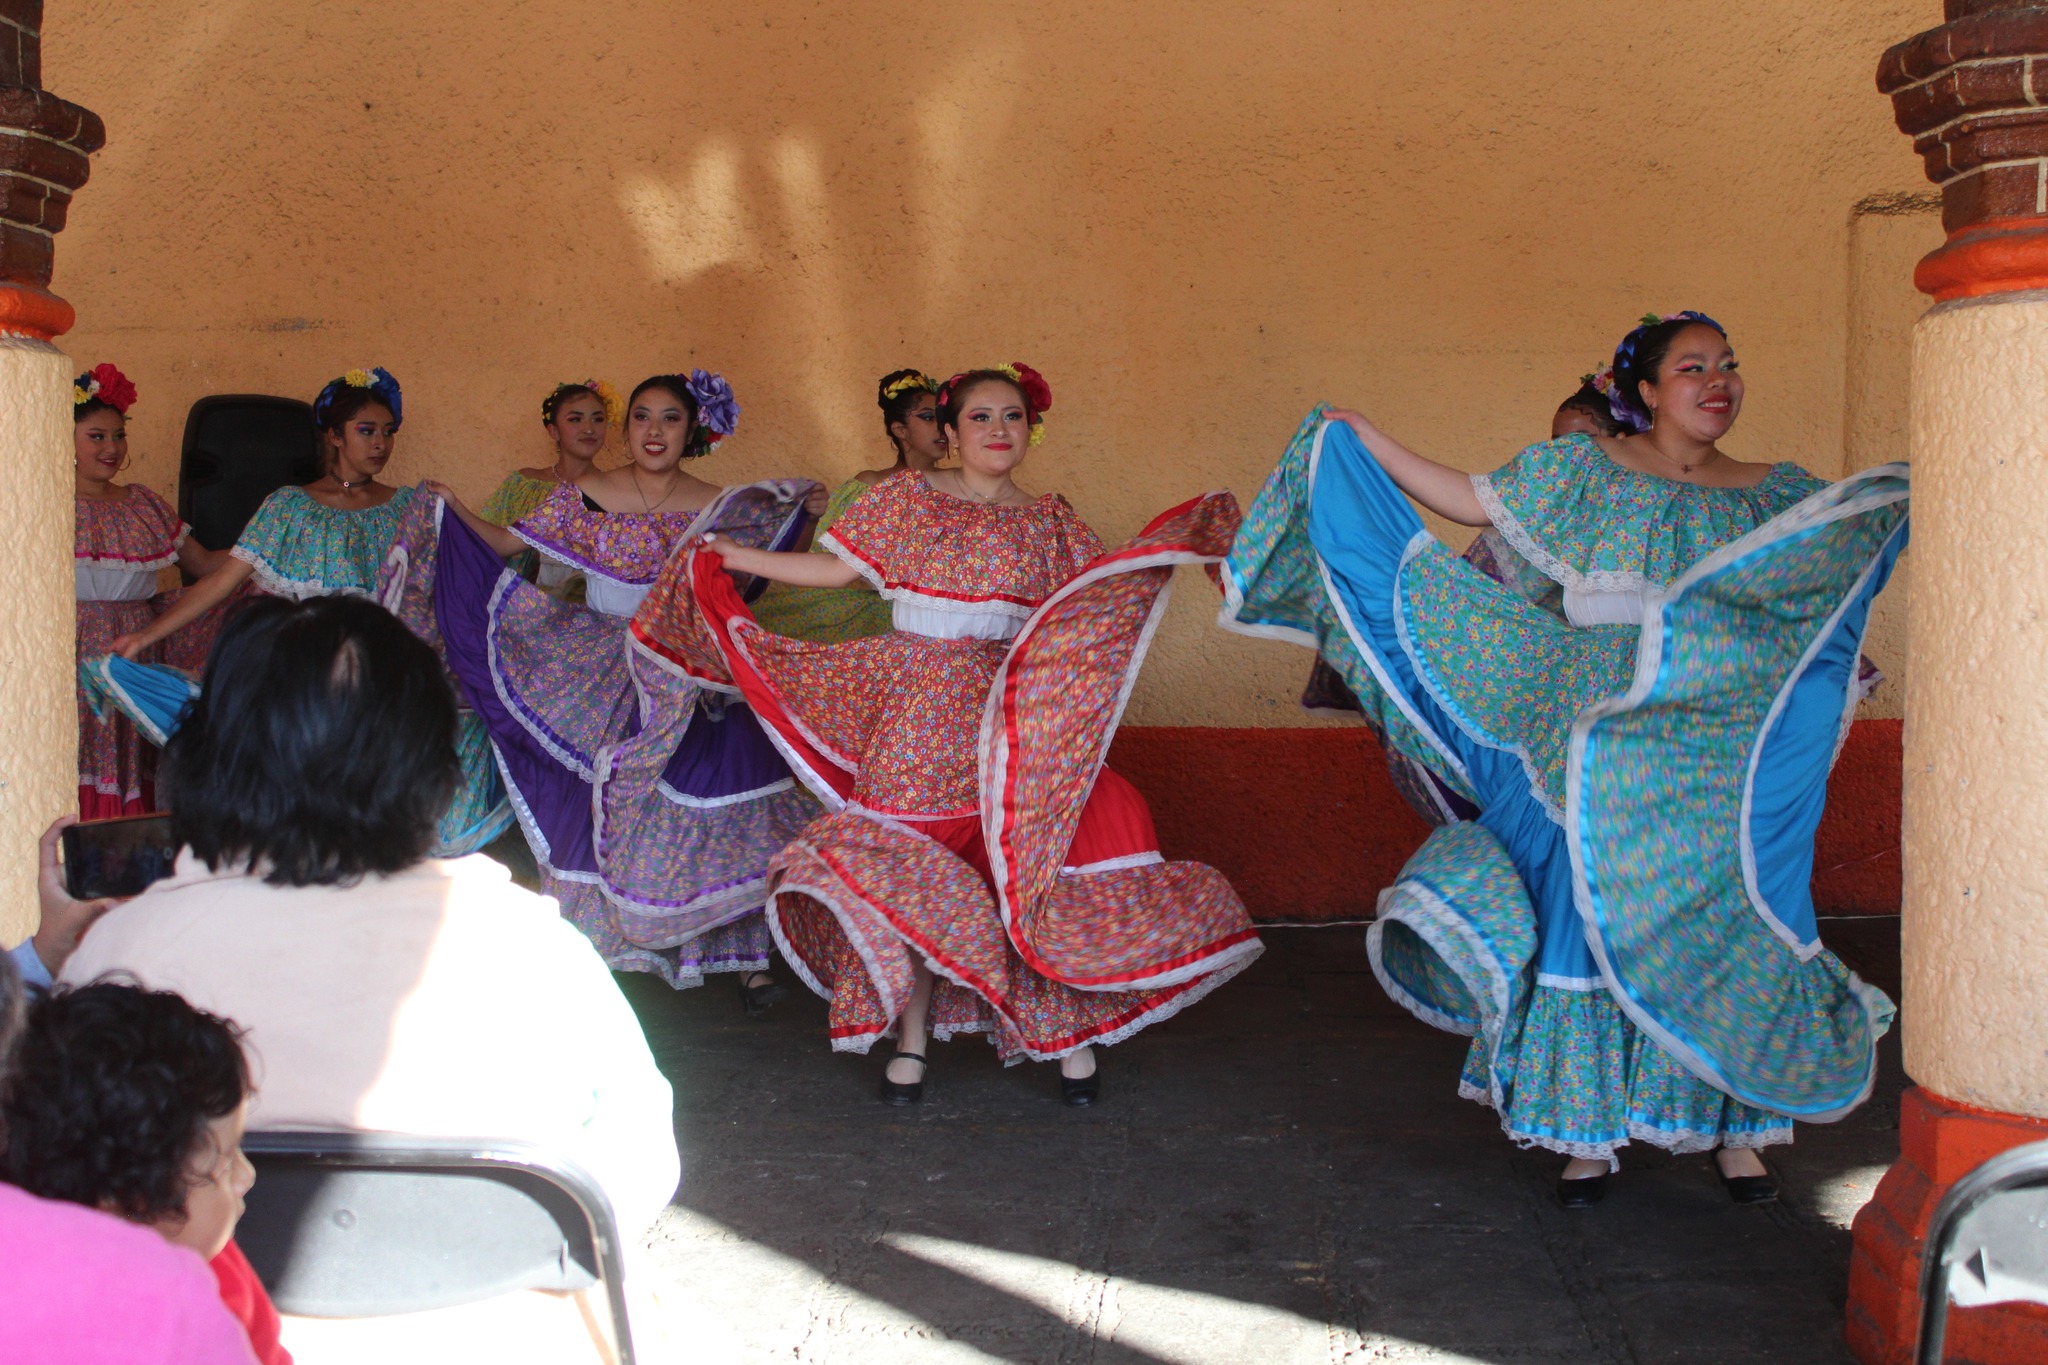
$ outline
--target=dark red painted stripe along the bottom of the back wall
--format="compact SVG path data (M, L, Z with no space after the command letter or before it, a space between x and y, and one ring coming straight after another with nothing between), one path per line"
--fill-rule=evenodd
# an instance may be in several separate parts
M1823 915L1898 913L1901 743L1898 720L1849 729L1815 839ZM1151 802L1161 851L1219 868L1262 921L1368 919L1430 833L1364 726L1126 726L1110 765Z

